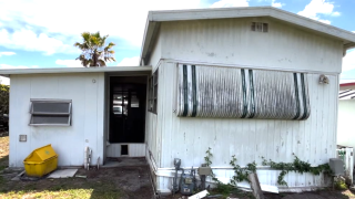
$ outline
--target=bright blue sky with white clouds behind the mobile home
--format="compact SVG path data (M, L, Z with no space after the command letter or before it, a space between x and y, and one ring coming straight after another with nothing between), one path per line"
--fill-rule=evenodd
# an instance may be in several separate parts
M255 6L355 32L353 0L0 0L0 69L80 66L73 43L84 31L109 34L116 44L116 62L108 65L138 65L149 10ZM343 59L343 72L355 80L355 51Z

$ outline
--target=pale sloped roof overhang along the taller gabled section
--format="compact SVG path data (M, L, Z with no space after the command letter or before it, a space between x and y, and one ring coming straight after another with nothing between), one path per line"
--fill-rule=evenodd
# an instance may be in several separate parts
M354 33L298 14L276 9L274 7L150 11L145 24L140 64L144 65L144 62L146 63L146 57L150 56L161 22L255 17L270 17L320 33L335 36L339 40L343 40L344 51L346 51L347 49L355 48Z

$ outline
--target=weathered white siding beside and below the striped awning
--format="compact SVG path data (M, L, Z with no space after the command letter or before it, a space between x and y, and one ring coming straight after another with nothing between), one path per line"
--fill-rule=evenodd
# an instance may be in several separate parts
M160 67L160 96L163 98L158 117L162 130L162 158L160 167L173 167L173 159L181 158L182 167L199 167L205 151L212 148L214 167L229 167L231 156L245 166L262 158L290 163L295 154L312 165L325 164L335 157L337 75L328 75L329 84L318 84L320 74L307 74L311 116L306 121L227 119L176 117L176 64ZM160 133L156 132L158 135ZM222 177L229 177L221 170ZM265 171L264 171L265 172ZM268 171L260 179L276 185L277 175ZM321 186L320 178L290 175L290 187ZM166 189L164 187L162 189Z

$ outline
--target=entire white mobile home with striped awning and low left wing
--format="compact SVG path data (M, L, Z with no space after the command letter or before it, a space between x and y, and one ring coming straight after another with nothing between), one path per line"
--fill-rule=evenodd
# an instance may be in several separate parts
M199 167L209 147L221 178L233 155L241 166L293 154L327 163L342 57L353 46L351 32L270 7L152 11L140 67L1 71L11 77L10 166L47 144L60 165L82 165L89 146L100 164L145 156L156 189L169 192L173 159ZM278 171L257 172L277 185ZM285 180L324 186L322 176Z

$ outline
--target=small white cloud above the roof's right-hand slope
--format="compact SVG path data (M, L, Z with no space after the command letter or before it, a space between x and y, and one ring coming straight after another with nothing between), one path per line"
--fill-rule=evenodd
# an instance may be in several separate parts
M304 10L300 11L298 14L311 18L313 20L321 21L323 23L331 24L329 20L321 19L320 14L326 14L332 17L341 15L341 12L334 12L334 4L333 2L326 2L325 0L312 0Z

